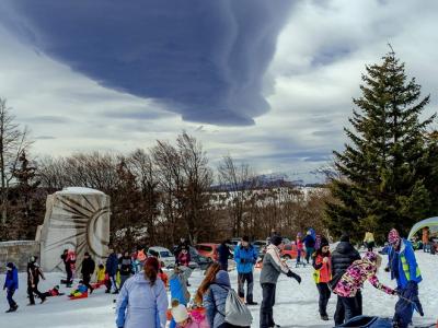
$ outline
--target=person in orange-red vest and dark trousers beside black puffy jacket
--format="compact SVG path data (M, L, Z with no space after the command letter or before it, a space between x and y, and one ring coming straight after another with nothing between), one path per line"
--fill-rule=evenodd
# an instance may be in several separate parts
M332 280L332 265L326 238L321 238L320 248L313 254L312 260L314 268L313 279L316 283L318 292L320 293L319 309L321 319L328 320L327 304L331 295L328 281Z

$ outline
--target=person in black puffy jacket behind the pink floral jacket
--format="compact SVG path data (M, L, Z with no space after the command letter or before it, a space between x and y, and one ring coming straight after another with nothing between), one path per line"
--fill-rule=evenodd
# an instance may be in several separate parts
M343 234L341 242L337 244L335 250L332 253L332 277L342 276L348 267L356 260L360 259L359 251L353 247L349 242L349 236ZM356 308L362 308L362 295L360 290L356 293ZM359 313L361 315L361 313ZM339 296L337 296L336 311L334 315L335 325L344 324L345 308Z

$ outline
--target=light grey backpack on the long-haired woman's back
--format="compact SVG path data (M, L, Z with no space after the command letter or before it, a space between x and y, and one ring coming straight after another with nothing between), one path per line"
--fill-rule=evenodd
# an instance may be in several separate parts
M251 327L253 316L251 315L250 309L234 290L227 290L228 296L226 301L226 314L223 315L226 317L226 323L238 327Z

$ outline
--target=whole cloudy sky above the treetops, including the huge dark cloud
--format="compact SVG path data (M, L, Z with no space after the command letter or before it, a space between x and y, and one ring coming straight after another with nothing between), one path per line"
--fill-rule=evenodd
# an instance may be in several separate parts
M214 166L230 153L311 180L387 43L436 110L437 14L434 0L2 0L0 96L38 155L185 129Z

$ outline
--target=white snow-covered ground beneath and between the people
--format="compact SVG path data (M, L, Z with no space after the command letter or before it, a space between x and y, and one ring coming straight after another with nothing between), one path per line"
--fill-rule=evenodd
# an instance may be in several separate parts
M438 319L438 256L417 253L417 260L422 269L424 281L419 284L420 300L425 317L414 315L414 324L431 324ZM333 321L321 321L318 313L318 291L312 280L310 267L299 268L297 272L302 277L302 283L297 284L295 280L281 276L277 285L277 304L274 308L274 316L281 327L333 327ZM237 288L237 272L230 273L234 288ZM254 298L261 302L261 286L258 284L260 270L255 271ZM379 278L383 283L393 285L389 274L381 270ZM58 284L61 279L59 273L47 274L47 280L41 283L41 291L46 291ZM203 273L194 272L191 278L191 292L194 294L196 286L200 283ZM3 282L3 278L1 279ZM15 300L20 308L16 313L5 314L8 303L5 293L0 300L0 327L34 327L34 328L100 328L115 327L114 324L114 295L104 293L104 290L96 290L89 298L69 301L67 296L49 297L42 305L26 306L26 286L24 274L20 276L20 290ZM64 290L68 292L68 290ZM395 296L387 295L369 283L366 283L364 291L364 314L392 317ZM328 315L333 317L336 305L336 297L332 295L328 303ZM260 306L251 307L254 316L253 327L258 327ZM146 326L145 326L146 327Z

